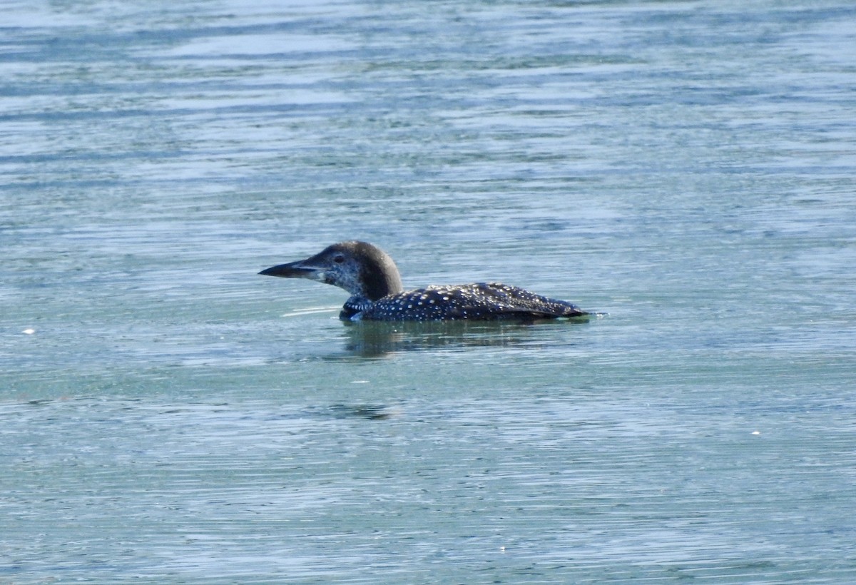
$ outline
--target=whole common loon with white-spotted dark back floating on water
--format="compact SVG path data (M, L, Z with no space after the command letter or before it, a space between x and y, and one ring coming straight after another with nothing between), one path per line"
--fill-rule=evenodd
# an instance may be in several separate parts
M568 301L557 301L498 283L403 290L395 262L383 250L367 242L332 244L306 260L271 266L259 274L309 278L347 290L351 296L339 313L342 320L531 321L588 314Z

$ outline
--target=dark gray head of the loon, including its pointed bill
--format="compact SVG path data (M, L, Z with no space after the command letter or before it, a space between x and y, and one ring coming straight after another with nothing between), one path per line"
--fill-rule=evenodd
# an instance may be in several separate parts
M402 290L395 262L382 249L367 242L339 242L306 260L271 266L259 274L318 280L370 301Z

